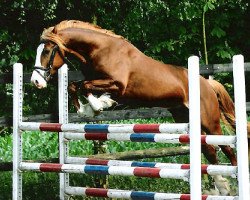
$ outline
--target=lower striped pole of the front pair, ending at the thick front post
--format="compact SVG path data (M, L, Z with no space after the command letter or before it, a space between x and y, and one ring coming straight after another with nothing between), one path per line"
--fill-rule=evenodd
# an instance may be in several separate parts
M103 166L103 165L78 165L78 164L55 164L55 163L20 163L22 171L37 172L61 172L61 173L83 173L100 175L137 176L149 178L171 178L189 180L187 169L166 169L150 167L128 167L128 166Z

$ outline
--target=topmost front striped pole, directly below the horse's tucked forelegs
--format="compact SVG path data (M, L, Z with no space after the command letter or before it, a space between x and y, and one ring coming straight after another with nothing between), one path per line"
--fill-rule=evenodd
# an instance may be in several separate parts
M187 123L176 124L62 124L21 122L19 128L27 131L71 133L187 133Z

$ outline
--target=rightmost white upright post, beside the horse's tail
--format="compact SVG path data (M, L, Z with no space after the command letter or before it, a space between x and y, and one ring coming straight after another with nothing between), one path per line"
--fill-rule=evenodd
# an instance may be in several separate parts
M234 101L237 135L238 188L239 199L249 200L248 138L246 118L246 93L244 57L233 57Z

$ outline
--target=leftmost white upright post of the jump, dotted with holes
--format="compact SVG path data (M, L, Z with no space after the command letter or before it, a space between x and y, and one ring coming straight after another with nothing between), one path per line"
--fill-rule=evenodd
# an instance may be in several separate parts
M13 66L13 200L22 199L22 174L19 164L22 160L22 138L19 123L22 121L23 111L23 65Z

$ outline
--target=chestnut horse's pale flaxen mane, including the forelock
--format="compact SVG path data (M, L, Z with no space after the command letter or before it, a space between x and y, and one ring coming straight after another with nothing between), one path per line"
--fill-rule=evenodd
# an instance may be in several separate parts
M65 42L57 34L59 31L67 29L67 28L88 29L88 30L99 32L99 33L107 34L107 35L112 36L112 37L124 39L122 36L116 35L114 32L112 32L110 30L102 29L100 26L97 26L95 24L91 24L88 22L82 22L82 21L78 21L78 20L65 20L65 21L62 21L55 26L44 29L44 31L42 32L42 35L41 35L41 41L49 40L49 41L55 42L61 49L73 53L72 50L68 49L65 46Z

